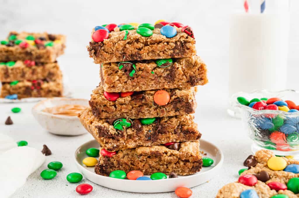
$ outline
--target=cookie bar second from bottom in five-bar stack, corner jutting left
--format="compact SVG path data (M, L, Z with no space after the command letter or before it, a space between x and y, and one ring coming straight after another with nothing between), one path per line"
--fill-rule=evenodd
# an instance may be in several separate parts
M90 108L78 117L101 147L109 152L169 142L196 141L201 137L191 114L156 118L151 124L142 124L142 119L99 119L92 115Z

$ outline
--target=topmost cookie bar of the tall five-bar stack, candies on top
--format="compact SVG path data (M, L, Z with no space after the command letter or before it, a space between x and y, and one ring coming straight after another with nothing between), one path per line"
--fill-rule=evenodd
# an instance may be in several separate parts
M141 24L138 28L129 24L96 26L87 46L89 56L98 64L194 56L192 28L178 24L179 27L173 24Z

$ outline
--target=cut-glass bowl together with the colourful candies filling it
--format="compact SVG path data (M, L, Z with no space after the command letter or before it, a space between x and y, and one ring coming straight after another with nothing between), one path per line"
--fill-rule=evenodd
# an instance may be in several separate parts
M269 149L275 155L299 156L299 93L242 93L234 106L239 108L245 131L253 140L253 152Z

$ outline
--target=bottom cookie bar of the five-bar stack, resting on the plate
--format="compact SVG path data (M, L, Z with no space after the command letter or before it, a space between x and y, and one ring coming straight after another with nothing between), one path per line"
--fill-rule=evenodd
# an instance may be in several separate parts
M123 170L126 173L139 170L144 174L174 172L178 175L189 175L199 172L201 168L199 141L195 141L180 143L179 150L163 145L141 146L120 150L112 157L100 155L94 172L105 176L109 176L110 172L115 170Z

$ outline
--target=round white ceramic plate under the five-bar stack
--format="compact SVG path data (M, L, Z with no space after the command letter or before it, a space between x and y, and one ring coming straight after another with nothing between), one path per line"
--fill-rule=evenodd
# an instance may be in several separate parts
M163 180L121 180L112 177L106 177L94 173L94 167L86 167L82 160L88 157L85 153L86 149L100 145L95 140L91 140L81 145L75 152L75 162L84 177L93 183L101 186L112 188L119 191L137 192L137 193L159 193L175 191L177 187L184 186L192 188L211 180L220 171L223 163L223 154L221 150L214 144L200 140L200 150L207 153L207 157L212 158L214 163L210 167L202 167L202 170L193 175L179 176L178 178Z

